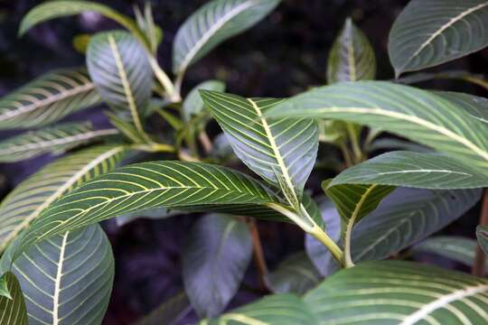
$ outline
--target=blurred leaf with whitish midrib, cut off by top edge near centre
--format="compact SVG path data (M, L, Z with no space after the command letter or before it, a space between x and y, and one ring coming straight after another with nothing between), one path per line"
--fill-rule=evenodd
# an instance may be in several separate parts
M173 70L182 75L196 60L261 21L280 0L213 0L202 5L176 33Z

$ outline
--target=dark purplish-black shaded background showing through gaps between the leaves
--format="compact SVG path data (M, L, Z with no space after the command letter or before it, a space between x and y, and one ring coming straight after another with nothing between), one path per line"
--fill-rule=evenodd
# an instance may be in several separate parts
M132 5L142 1L99 1L132 14ZM170 71L171 47L179 24L205 0L151 1L155 22L164 29L159 60ZM71 39L79 33L117 28L97 14L42 23L18 39L17 28L33 5L41 1L0 0L0 95L23 85L47 70L84 64L84 57L73 50ZM204 79L223 79L228 90L245 96L285 97L310 86L324 84L327 52L348 15L370 37L377 50L378 78L393 78L387 53L388 33L395 16L406 0L284 0L265 21L244 34L223 43L187 73L186 91ZM456 60L443 69L463 69L483 73L487 52ZM486 96L480 88L455 81L436 81L427 87L463 90ZM91 119L97 125L107 122L99 108L71 116ZM213 133L217 128L211 126ZM211 130L211 131L212 131ZM0 138L12 135L0 133ZM325 153L326 154L326 153ZM14 184L32 174L50 157L23 163L0 164L3 194ZM321 178L312 179L313 185ZM472 237L476 207L445 234ZM179 254L194 217L166 220L137 220L124 228L107 222L105 228L114 247L117 275L104 324L130 324L160 302L183 289ZM293 226L259 224L269 265L276 265L286 255L303 248L303 234ZM444 261L446 263L446 261ZM257 274L251 267L232 305L258 297ZM181 323L195 320L189 315Z

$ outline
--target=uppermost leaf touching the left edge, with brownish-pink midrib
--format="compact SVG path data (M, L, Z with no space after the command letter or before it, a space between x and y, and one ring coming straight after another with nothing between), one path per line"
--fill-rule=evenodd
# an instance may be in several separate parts
M85 68L53 70L0 99L0 129L48 125L99 101Z

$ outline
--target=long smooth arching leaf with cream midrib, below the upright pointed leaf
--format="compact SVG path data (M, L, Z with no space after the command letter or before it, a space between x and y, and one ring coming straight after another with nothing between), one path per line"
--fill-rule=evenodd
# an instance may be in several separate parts
M267 116L343 119L426 144L488 174L488 125L459 103L384 81L314 88L272 107Z

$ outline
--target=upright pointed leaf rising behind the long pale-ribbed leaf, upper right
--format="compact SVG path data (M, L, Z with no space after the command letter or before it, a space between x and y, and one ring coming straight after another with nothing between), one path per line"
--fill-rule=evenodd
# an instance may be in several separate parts
M376 58L370 41L348 18L333 42L327 63L327 83L374 79Z

